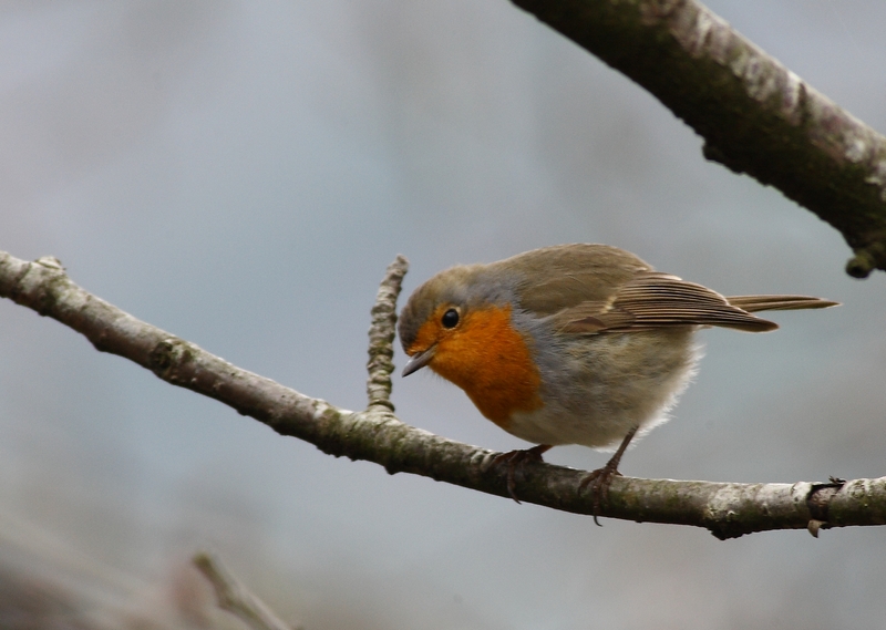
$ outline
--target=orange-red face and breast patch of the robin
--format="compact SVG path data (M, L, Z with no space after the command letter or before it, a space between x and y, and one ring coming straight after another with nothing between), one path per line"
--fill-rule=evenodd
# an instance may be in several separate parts
M439 307L406 353L430 352L422 364L462 388L480 412L503 428L515 411L540 407L542 376L532 341L512 326L511 306L471 309L447 329L441 321L452 308Z

